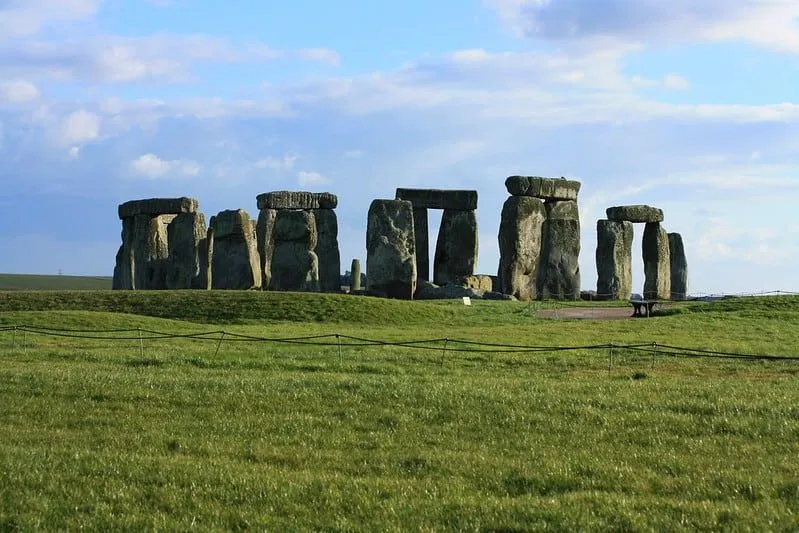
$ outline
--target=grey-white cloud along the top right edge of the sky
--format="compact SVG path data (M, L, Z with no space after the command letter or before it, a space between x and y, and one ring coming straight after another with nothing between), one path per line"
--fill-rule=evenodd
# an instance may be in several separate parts
M795 0L486 0L519 35L594 48L736 42L799 53Z

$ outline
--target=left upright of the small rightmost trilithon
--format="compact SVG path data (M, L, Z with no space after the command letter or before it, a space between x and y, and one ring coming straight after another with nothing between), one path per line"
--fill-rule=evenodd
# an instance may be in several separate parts
M598 220L596 235L597 298L628 300L633 293L632 222Z

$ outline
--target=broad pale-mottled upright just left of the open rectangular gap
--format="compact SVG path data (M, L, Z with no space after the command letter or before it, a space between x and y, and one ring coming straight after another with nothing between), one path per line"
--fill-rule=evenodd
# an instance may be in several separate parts
M366 228L366 279L370 293L413 299L416 292L416 236L413 205L374 200Z

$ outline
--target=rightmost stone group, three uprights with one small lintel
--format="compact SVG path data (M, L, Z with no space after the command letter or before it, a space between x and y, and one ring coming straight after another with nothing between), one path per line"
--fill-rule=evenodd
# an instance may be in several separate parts
M685 299L688 265L682 236L667 233L663 211L648 205L609 207L607 219L597 222L597 296L627 299L632 294L633 224L645 224L642 242L643 297L651 300ZM674 254L674 257L672 257Z

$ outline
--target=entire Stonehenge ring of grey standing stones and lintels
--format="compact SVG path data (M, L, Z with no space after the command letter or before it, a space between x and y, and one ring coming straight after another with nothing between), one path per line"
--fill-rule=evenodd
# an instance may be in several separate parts
M339 292L349 284L353 293L409 300L580 298L580 182L510 176L505 187L510 196L502 206L496 276L475 275L477 191L397 188L394 199L374 200L366 228L366 274L362 278L356 258L352 279L345 282L338 197L273 191L256 197L257 220L243 209L224 210L207 226L197 200L189 197L119 205L122 243L113 288ZM432 265L430 209L443 212ZM632 295L633 224L645 224L643 297L687 297L682 236L667 233L663 220L663 211L648 205L606 210L606 218L596 223L597 298Z

